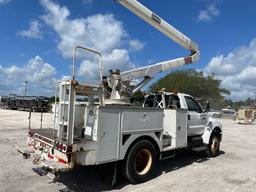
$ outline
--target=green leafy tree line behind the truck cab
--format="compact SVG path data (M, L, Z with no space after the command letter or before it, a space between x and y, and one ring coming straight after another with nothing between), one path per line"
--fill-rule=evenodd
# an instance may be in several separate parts
M167 92L186 93L196 98L202 106L210 101L211 108L222 109L230 106L239 109L242 106L251 106L255 100L247 98L244 101L232 101L225 99L230 91L221 87L221 80L214 74L204 74L194 69L173 71L163 78L154 82L147 92L157 92L165 89ZM139 92L133 96L132 101L142 101L143 93Z

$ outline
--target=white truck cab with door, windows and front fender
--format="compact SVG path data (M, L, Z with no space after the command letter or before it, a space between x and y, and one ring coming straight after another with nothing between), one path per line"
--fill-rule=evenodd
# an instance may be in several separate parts
M145 97L143 107L163 108L163 109L184 109L187 111L187 140L193 143L196 140L196 146L202 143L208 144L211 133L207 132L209 126L216 128L220 135L221 124L207 115L200 103L191 95L184 93L170 93L159 91L148 94ZM201 144L200 144L201 143Z

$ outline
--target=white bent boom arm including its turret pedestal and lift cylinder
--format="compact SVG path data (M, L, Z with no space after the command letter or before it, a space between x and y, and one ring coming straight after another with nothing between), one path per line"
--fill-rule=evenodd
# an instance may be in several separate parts
M165 34L170 39L174 40L176 43L188 49L190 51L190 55L187 57L182 57L178 59L168 60L164 62L160 62L157 64L153 64L150 66L132 69L125 72L117 72L112 73L109 78L109 90L111 90L111 99L119 100L121 97L120 92L124 87L122 82L131 81L134 79L144 77L144 80L139 83L130 93L135 93L139 89L141 89L146 83L150 81L154 77L155 74L167 71L171 68L190 64L196 62L200 59L200 52L198 49L198 45L194 43L191 39L189 39L186 35L175 29L173 26L168 24L158 15L150 11L148 8L140 4L136 0L114 0L131 12L142 18L144 21L155 27L157 30Z

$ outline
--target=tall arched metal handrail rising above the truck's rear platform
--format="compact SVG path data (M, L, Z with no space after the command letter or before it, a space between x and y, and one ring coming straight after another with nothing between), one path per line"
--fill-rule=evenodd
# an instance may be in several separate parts
M89 49L86 47L82 47L82 46L75 46L73 49L73 72L72 72L72 79L75 80L75 75L76 75L76 50L77 49L83 49L85 51L89 51L91 53L94 53L96 55L98 55L100 57L100 80L102 82L102 76L103 76L103 58L102 58L102 54L98 51L95 51L93 49Z

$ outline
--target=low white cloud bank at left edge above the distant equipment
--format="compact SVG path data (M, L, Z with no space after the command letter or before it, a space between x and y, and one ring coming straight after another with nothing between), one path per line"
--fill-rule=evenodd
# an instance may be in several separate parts
M24 82L28 81L29 95L53 95L55 68L40 56L31 58L24 65L3 67L0 65L0 94L24 94Z

